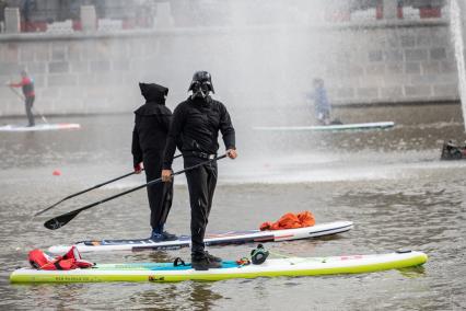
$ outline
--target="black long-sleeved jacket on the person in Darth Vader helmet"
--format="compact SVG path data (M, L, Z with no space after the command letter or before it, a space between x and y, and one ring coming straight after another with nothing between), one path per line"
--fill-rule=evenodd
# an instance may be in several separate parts
M219 101L191 100L182 102L173 113L173 122L166 140L163 169L172 168L176 142L182 140L180 151L200 151L209 154L219 150L219 130L226 149L235 149L235 131L226 107ZM178 146L179 147L179 146Z

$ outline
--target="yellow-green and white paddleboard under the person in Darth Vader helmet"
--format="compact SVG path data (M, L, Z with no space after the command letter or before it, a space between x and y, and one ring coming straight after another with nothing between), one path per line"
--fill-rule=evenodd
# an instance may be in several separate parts
M103 264L92 268L72 270L37 270L20 268L10 275L11 283L100 283L100 281L183 281L222 280L255 277L295 277L334 274L360 274L419 266L428 256L420 252L401 252L376 255L336 257L290 257L266 260L260 265L240 265L223 262L221 268L195 270L189 264L135 263Z

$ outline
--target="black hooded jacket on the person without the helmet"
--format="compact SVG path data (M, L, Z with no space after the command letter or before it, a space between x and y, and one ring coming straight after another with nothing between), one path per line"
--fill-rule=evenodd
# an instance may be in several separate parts
M131 147L135 166L147 157L158 159L158 161L163 159L163 150L172 119L172 112L165 106L165 96L168 94L167 88L155 83L139 83L139 88L145 99L145 104L135 111Z

